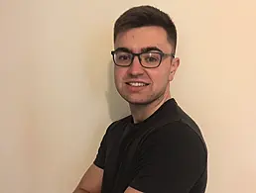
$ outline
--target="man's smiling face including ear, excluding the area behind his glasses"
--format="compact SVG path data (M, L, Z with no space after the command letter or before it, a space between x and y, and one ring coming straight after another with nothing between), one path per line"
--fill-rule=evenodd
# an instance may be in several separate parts
M167 33L161 27L135 28L120 33L115 41L116 48L125 48L139 53L147 48L151 51L173 53L174 48L168 42ZM157 50L158 48L160 50ZM179 66L179 58L164 56L156 68L145 68L138 56L130 66L114 67L115 85L119 94L130 104L149 104L169 95L170 81Z

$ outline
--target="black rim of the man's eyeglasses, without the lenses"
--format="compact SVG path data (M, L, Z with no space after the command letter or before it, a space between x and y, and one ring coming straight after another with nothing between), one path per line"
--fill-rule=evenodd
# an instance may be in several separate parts
M157 51L157 50L142 51L142 52L139 52L139 53L134 53L134 52L132 52L132 51L123 51L123 52L127 52L127 53L132 54L131 62L130 62L128 65L119 65L119 64L116 63L116 61L115 61L115 53L116 53L117 51L120 51L120 50L118 50L118 49L112 50L112 51L111 51L111 55L112 55L112 57L113 57L113 61L114 61L115 65L120 66L120 67L128 67L128 66L130 66L130 65L132 64L132 62L133 62L135 56L138 56L141 66L143 66L143 67L145 67L145 68L157 68L157 67L159 67L160 64L162 63L162 60L163 60L163 57L164 57L164 56L172 56L173 58L175 58L175 53L165 53L165 52ZM161 58L160 58L160 60L159 60L159 64L158 64L157 66L154 66L154 67L144 66L144 65L141 63L141 57L140 57L141 54L144 54L144 53L158 53L158 54L160 54Z

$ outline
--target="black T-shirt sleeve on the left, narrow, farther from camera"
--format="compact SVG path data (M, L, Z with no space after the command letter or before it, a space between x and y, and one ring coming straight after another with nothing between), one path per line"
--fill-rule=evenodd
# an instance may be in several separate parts
M115 122L114 122L115 123ZM98 166L101 169L104 169L105 167L105 159L106 159L106 149L107 149L107 136L109 133L109 130L111 130L111 128L113 127L114 123L112 123L106 130L106 133L104 134L98 151L97 151L97 155L93 161L93 163Z

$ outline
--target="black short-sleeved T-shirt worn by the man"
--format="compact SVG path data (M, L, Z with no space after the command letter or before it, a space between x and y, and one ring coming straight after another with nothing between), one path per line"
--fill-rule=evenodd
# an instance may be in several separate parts
M102 193L203 193L207 182L206 145L175 99L141 123L112 123L94 164L104 169Z

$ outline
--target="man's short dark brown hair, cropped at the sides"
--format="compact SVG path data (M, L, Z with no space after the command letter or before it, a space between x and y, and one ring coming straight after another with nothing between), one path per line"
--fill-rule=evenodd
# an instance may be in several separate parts
M168 14L149 5L130 8L116 20L114 25L114 42L118 34L133 28L146 26L162 27L167 32L168 41L176 49L177 30L174 22Z

